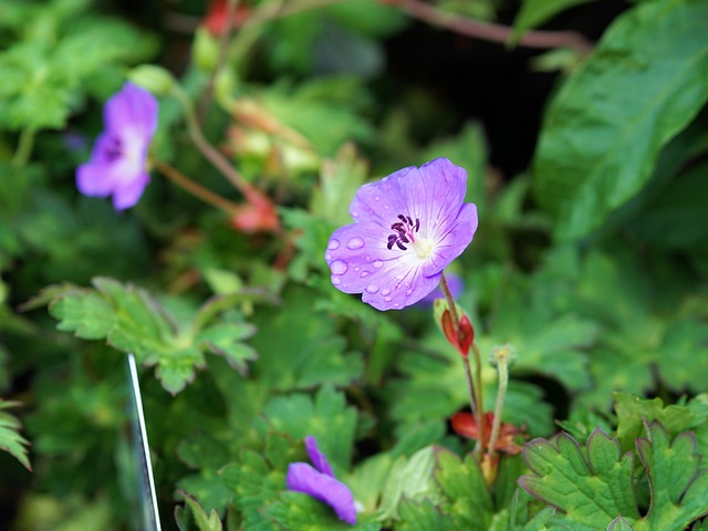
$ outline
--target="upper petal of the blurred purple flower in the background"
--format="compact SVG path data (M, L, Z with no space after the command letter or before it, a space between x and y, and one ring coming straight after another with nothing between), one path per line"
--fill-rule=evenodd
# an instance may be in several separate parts
M157 100L145 88L126 83L103 107L107 131L149 143L157 128Z

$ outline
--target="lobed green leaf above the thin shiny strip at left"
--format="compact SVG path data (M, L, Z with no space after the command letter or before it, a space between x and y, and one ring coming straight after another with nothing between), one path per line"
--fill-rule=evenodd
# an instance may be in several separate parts
M204 317L214 316L210 303L180 327L144 290L106 278L96 278L93 284L95 290L71 284L49 288L35 304L49 302L59 330L85 340L105 337L114 348L135 354L139 363L156 365L157 377L173 394L195 378L195 368L205 364L205 352L223 355L241 371L256 358L252 348L240 343L253 329L238 321L210 324Z

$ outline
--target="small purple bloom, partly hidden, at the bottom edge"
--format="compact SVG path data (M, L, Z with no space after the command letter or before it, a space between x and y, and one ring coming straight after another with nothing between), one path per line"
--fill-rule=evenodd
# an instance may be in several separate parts
M293 462L288 467L285 485L289 490L304 492L334 509L340 520L354 525L356 508L350 488L334 477L327 458L317 448L314 437L305 437L305 450L314 468L306 462Z

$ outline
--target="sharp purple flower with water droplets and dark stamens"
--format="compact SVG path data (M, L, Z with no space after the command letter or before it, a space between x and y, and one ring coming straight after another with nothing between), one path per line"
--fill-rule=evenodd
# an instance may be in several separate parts
M462 204L466 191L467 171L447 158L362 186L350 207L354 223L330 237L332 283L377 310L421 300L472 241L477 207Z

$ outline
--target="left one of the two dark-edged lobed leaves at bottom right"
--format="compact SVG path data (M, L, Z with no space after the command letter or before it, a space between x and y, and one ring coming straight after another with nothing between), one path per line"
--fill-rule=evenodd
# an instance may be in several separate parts
M623 456L617 440L601 429L590 437L586 455L587 458L566 434L559 435L555 446L534 439L523 449L533 473L521 477L519 485L563 510L572 522L596 527L611 522L617 514L638 519L633 455Z

